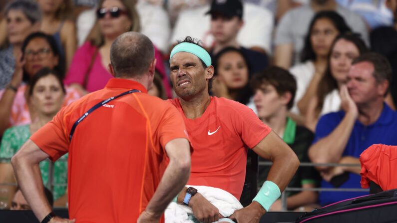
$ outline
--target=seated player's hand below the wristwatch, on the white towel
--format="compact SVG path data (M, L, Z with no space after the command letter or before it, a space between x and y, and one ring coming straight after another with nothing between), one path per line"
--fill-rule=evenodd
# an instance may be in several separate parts
M200 193L190 199L189 207L192 208L194 217L203 223L212 223L218 221L220 217L223 218L219 210Z

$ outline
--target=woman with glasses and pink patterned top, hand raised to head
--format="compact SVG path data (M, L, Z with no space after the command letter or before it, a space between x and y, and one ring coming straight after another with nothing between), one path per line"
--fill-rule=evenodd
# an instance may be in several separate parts
M0 134L10 126L26 125L37 117L25 91L38 70L48 67L61 76L64 74L64 63L59 59L58 47L51 35L31 33L23 41L21 51L23 54L17 60L9 87L0 91ZM81 93L73 87L66 87L65 90L64 105L81 97Z

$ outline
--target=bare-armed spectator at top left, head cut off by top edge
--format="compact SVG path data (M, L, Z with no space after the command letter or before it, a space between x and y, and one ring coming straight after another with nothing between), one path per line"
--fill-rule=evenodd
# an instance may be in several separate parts
M76 50L76 26L71 20L73 0L37 0L42 11L40 30L51 34L58 45L59 55L69 67Z

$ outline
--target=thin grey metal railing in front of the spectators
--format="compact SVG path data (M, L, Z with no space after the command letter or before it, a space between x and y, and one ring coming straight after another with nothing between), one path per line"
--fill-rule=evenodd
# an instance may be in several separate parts
M10 161L11 158L0 158L1 161ZM49 161L49 160L48 160ZM60 158L57 162L67 162L67 159ZM273 163L269 161L260 161L259 166L271 166ZM338 164L338 163L301 163L300 167L315 167L315 166L327 166L327 167L336 167L336 166L350 166L350 167L360 167L360 164ZM52 192L54 186L67 186L66 184L54 184L53 182L53 171L54 165L51 161L48 162L48 182L46 187ZM16 183L0 183L0 186L16 186ZM369 189L362 188L289 188L287 187L283 193L281 194L281 204L282 211L287 211L287 192L288 191L345 191L345 192L369 192Z

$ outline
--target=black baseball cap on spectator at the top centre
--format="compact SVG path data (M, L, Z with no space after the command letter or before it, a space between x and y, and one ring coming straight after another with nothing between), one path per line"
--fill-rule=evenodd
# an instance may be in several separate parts
M212 0L211 9L206 14L219 13L227 17L237 15L243 17L243 3L241 0Z

